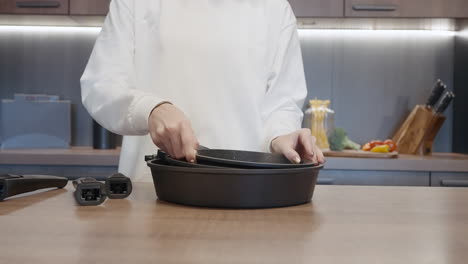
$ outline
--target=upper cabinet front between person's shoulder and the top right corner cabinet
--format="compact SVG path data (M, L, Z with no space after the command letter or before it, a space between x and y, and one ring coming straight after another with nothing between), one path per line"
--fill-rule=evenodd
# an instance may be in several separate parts
M289 0L297 17L343 17L343 0Z

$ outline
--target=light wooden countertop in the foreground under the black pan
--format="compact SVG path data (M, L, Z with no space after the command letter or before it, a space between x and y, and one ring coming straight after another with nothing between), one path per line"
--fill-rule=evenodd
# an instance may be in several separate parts
M78 207L72 187L0 203L2 263L466 263L468 192L317 186L313 202L266 210L129 200Z

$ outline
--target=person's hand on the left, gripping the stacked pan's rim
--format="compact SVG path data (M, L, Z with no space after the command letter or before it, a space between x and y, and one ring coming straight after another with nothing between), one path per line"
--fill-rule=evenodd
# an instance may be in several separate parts
M195 162L198 140L185 114L172 104L159 105L150 114L151 139L161 150L176 159Z

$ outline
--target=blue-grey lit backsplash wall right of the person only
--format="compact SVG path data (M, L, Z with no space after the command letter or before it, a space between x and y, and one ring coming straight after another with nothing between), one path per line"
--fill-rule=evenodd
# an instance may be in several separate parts
M331 99L336 125L359 143L393 135L437 78L453 89L455 33L300 30L309 98ZM452 149L452 108L435 150Z

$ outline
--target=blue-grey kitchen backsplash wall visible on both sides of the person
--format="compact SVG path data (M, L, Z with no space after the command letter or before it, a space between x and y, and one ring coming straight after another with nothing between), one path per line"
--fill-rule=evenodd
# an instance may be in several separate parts
M96 29L0 27L0 98L58 94L73 108L73 144L92 145L79 78ZM300 30L310 98L331 99L337 126L365 142L390 137L432 83L453 85L454 34L437 31ZM451 151L452 110L436 151Z

